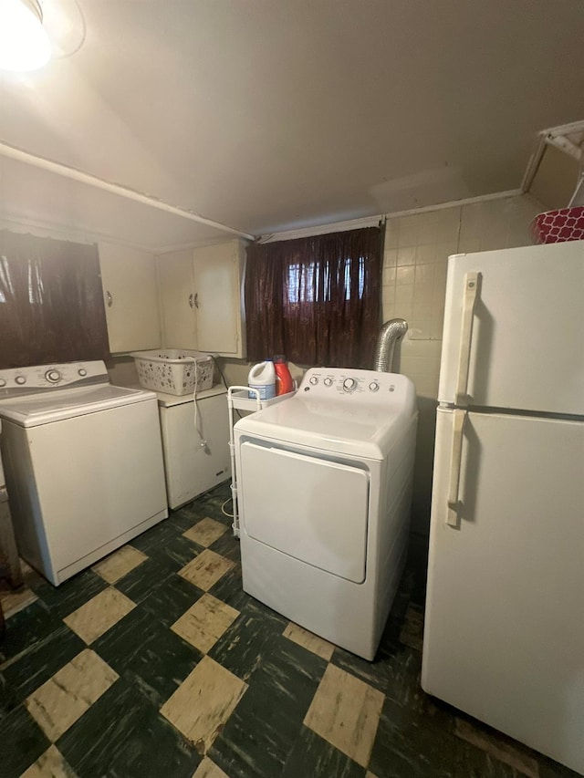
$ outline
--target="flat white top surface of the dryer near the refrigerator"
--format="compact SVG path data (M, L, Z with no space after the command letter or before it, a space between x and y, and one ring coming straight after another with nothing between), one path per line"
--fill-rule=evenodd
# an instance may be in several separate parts
M320 451L384 459L415 418L412 408L308 399L296 394L237 421L238 434L310 446Z

